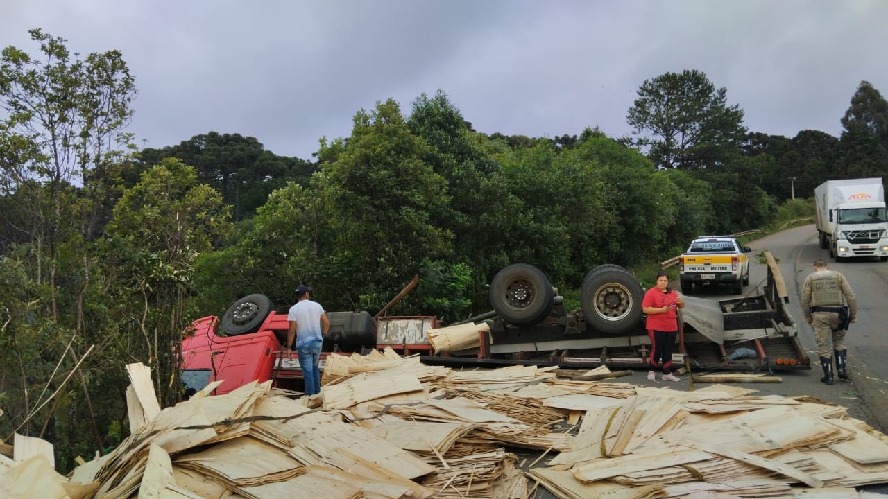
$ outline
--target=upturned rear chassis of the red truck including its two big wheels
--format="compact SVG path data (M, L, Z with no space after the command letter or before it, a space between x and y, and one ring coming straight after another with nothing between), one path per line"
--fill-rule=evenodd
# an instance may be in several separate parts
M765 258L767 279L757 289L760 294L726 300L685 297L673 363L740 371L811 368L787 308L780 269L770 253L765 252ZM618 265L601 265L586 275L581 309L574 312L565 310L557 289L531 265L505 267L491 283L490 294L494 311L466 321L486 326L479 328L470 348L448 352L427 339L424 348L423 339L416 336L407 345L397 334L379 335L377 347L425 350L424 362L445 365L650 365L651 340L641 313L644 289ZM407 325L405 319L380 318L379 329L397 331Z

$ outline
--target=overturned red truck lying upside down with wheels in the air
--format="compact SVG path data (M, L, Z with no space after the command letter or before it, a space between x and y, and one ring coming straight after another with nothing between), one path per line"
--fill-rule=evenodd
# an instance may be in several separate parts
M797 339L789 297L770 254L760 294L728 300L685 297L678 315L678 352L673 362L692 369L810 369ZM650 340L641 300L645 290L619 265L599 265L583 280L581 307L568 312L558 291L533 265L514 264L490 285L493 311L461 323L485 323L476 345L456 352L434 352L428 332L441 327L432 316L382 316L367 312L328 313L324 339L329 352L369 352L392 347L419 353L424 362L452 366L557 365L563 368L647 368ZM226 313L194 321L182 341L182 379L201 390L222 381L217 393L253 380L274 380L277 387L300 390L302 372L295 354L281 352L287 335L287 310L275 310L265 295L243 297ZM481 328L479 328L481 329ZM751 352L738 359L734 353Z

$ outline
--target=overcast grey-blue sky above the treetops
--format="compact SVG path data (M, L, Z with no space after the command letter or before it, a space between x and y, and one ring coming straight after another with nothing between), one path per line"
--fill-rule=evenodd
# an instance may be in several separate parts
M0 46L36 55L29 28L123 52L146 147L218 131L311 159L439 89L484 133L621 137L638 86L684 69L789 138L839 136L861 80L888 97L882 0L0 0Z

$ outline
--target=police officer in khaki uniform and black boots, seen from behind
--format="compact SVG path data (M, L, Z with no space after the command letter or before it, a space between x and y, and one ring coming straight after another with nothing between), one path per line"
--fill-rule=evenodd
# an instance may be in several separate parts
M817 350L823 365L821 382L833 384L832 355L836 354L836 370L842 379L848 379L846 370L847 352L844 346L843 308L847 306L847 317L851 322L857 321L857 300L851 285L844 275L827 268L825 260L814 261L814 272L805 279L802 289L802 313L805 320L814 329Z

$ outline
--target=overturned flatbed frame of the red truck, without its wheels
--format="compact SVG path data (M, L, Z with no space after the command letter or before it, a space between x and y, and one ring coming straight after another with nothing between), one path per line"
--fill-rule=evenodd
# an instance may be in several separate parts
M673 363L728 371L810 370L789 313L789 296L770 253L762 293L709 300L684 297L678 311ZM638 304L640 306L640 303ZM449 366L537 365L561 368L649 368L651 340L638 321L620 334L593 329L579 312L555 314L542 323L514 326L486 321L478 346L459 352L426 354L425 363ZM385 346L385 345L378 345ZM390 345L397 350L397 345Z

